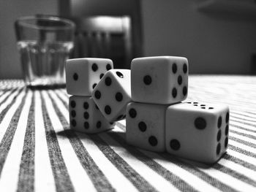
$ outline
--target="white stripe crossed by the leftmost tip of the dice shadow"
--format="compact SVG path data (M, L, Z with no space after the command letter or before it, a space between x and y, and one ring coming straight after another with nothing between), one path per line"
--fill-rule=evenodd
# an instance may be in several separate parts
M67 166L69 177L74 185L75 191L84 191L85 186L86 191L96 191L94 185L91 183L89 176L86 174L86 172L83 169L83 166L80 164L80 161L78 160L78 157L75 154L75 151L72 148L69 139L58 134L59 132L64 131L64 128L62 127L61 122L58 116L56 115L50 98L45 93L45 91L42 91L42 94L45 98L46 109L48 111L54 131L56 132L59 147L61 148L62 156Z

